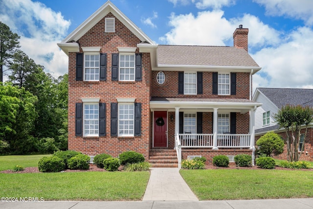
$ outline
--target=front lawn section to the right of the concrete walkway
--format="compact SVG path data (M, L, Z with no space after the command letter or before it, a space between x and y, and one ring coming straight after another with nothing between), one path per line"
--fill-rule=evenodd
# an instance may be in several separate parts
M300 170L180 170L199 200L313 197L313 172Z

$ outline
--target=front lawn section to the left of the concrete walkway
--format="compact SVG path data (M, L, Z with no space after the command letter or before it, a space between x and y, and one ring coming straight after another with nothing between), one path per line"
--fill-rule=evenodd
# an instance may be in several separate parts
M140 200L150 173L63 172L0 173L1 197L43 197L44 200Z

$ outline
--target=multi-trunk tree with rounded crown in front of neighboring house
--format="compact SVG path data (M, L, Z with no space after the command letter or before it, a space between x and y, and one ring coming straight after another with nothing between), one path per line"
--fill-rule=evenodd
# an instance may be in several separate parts
M308 125L313 122L313 109L309 106L286 105L275 114L274 119L280 127L285 128L287 143L287 161L299 161L307 138ZM298 152L301 130L305 129L301 152Z

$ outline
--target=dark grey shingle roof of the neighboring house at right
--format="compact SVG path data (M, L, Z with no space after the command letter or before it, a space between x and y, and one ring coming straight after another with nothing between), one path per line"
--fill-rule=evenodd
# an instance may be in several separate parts
M287 104L313 107L313 89L258 88L258 90L278 108Z

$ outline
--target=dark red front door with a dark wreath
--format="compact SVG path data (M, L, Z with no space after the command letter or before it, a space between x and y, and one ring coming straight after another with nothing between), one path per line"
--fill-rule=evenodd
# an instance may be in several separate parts
M155 111L154 147L167 147L167 112Z

